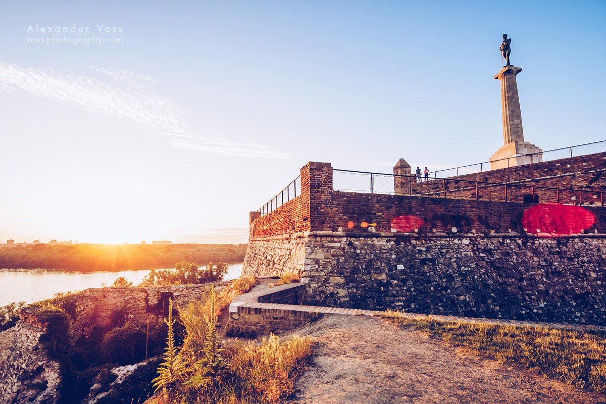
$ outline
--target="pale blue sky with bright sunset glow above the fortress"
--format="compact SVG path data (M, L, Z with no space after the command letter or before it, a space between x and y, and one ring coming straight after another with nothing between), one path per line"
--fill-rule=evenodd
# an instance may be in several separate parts
M308 161L488 161L503 33L525 141L606 140L605 21L602 0L2 1L0 242L245 243Z

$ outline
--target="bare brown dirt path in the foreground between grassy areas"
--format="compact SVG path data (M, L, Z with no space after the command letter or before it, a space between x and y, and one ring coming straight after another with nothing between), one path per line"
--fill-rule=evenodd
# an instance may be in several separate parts
M378 317L326 316L291 404L600 403L606 397L462 353Z

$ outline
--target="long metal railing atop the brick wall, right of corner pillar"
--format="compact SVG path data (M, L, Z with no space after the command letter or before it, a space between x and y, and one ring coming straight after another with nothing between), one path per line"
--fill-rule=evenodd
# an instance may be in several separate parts
M333 169L333 189L357 193L599 206L604 206L606 193L606 190L536 187L438 177L428 177L423 182L418 182L418 179L425 178Z

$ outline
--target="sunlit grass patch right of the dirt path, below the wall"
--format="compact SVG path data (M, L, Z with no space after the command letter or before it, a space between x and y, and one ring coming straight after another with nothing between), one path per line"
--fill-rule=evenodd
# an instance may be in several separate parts
M473 354L522 366L568 385L606 392L606 332L568 331L410 319L397 311L380 314L398 325L413 325Z

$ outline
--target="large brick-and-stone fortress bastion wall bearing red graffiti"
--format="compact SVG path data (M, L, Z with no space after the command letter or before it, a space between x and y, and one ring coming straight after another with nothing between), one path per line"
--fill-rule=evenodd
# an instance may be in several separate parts
M604 153L581 158L494 173L547 169L566 187L602 185ZM307 208L296 200L251 214L243 274L298 274L310 305L606 324L602 207L346 193L333 190L328 163L308 163L301 177L310 179L298 196L309 201L299 221L308 225L285 225L289 204Z

